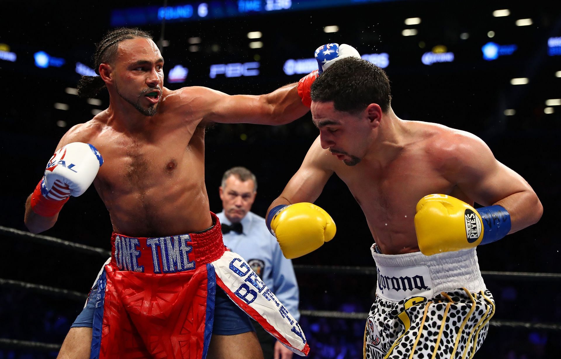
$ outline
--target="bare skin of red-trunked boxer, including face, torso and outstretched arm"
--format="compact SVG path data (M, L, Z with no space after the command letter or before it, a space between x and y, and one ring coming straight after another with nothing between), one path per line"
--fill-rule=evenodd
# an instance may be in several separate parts
M197 86L169 90L163 87L162 67L151 40L120 43L116 65L100 65L106 83L114 85L108 86L109 108L72 127L57 146L87 142L103 155L94 186L113 230L127 236L169 236L212 225L204 183L206 125L279 125L307 112L296 84L261 96L230 96ZM161 92L154 104L145 95L157 89ZM156 106L157 113L144 116L131 102L142 109Z

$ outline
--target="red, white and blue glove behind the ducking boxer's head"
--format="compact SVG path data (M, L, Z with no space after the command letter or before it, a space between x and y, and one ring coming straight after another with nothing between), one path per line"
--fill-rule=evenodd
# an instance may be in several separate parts
M360 58L358 51L347 44L325 44L315 50L314 57L318 61L318 70L310 72L298 81L298 96L300 96L304 105L311 106L310 90L315 79L335 61L350 56Z

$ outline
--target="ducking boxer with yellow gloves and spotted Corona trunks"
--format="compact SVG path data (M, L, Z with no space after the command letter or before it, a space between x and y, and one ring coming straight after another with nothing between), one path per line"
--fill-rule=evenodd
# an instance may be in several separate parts
M311 99L319 137L267 217L284 255L333 238L332 218L309 202L336 173L375 241L378 286L364 357L471 358L495 310L476 246L536 223L540 200L476 136L398 118L388 77L367 61L333 63Z

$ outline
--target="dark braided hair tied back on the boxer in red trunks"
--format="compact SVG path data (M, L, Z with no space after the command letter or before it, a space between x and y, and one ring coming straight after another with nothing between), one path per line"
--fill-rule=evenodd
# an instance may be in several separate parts
M95 47L95 73L99 75L98 69L100 64L114 61L120 42L136 38L151 39L152 36L146 33L146 31L131 27L119 27L118 29L108 31ZM104 87L105 82L103 82L100 76L82 76L78 82L78 95L82 98L94 97Z

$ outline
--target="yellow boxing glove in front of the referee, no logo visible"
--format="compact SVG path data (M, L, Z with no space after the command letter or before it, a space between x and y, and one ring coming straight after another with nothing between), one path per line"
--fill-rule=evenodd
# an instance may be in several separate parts
M267 216L267 225L288 259L315 251L336 231L331 216L308 202L276 206Z

